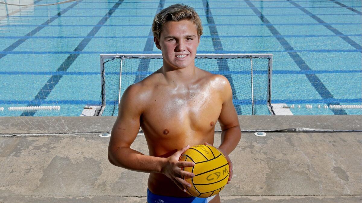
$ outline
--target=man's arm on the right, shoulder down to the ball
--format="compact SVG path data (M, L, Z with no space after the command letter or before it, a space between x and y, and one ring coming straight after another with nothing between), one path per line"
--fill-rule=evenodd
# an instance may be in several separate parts
M222 77L223 83L223 105L219 116L219 123L221 126L221 144L220 147L224 152L229 155L237 146L241 138L241 130L239 126L239 119L232 103L232 91L229 81Z

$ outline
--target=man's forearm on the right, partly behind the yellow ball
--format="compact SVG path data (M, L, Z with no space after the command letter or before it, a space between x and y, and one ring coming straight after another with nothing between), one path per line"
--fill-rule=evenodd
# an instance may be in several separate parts
M223 130L221 133L220 147L224 152L229 155L237 146L241 138L240 126L234 126Z

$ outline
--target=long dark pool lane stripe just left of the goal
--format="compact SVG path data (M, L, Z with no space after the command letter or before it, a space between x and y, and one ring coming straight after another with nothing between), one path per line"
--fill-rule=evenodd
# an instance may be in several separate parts
M83 0L79 0L76 3L79 3ZM94 36L97 34L97 32L101 29L102 26L99 25L104 25L104 23L107 22L107 20L111 17L111 15L114 13L114 11L119 7L119 5L121 5L123 3L123 0L119 0L116 4L114 4L114 6L108 11L108 13L105 14L105 16L97 23L96 26L93 27L92 30L90 30L90 32L88 33L87 37L89 36ZM73 5L73 4L72 4ZM73 7L76 4L73 5ZM72 7L72 8L73 8ZM71 9L70 7L68 7L69 9ZM68 9L67 8L67 9ZM68 9L68 10L69 10ZM65 10L65 9L64 9ZM64 11L63 10L63 11ZM63 12L62 11L62 12ZM60 12L61 13L61 12ZM81 52L83 51L83 49L88 45L88 43L90 42L90 40L92 40L92 38L84 38L79 44L78 46L74 49L74 51L78 51ZM56 70L58 71L62 71L62 72L66 72L68 70L68 68L72 65L72 63L77 59L77 57L80 55L80 53L76 53L76 54L71 54L67 57L66 60L63 61L62 65L59 66L59 68ZM59 74L59 75L52 75L49 80L45 83L45 85L41 88L41 90L39 90L38 94L35 96L35 98L33 99L33 102L30 103L35 103L39 100L44 100L47 98L47 96L49 96L50 92L54 89L54 87L56 86L56 84L58 84L58 82L60 81L60 79L63 77L63 74ZM28 106L40 106L41 105L41 101L37 102L36 105L30 105L28 104ZM36 111L32 111L32 112L27 112L24 111L22 112L22 114L20 116L34 116L34 114L36 113Z

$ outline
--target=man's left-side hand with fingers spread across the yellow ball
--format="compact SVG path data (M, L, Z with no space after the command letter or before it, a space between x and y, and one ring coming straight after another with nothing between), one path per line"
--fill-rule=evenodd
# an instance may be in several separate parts
M165 174L167 177L171 178L171 180L176 183L180 190L186 192L186 187L191 187L191 185L186 182L182 176L185 178L192 178L195 177L195 174L186 172L181 170L184 167L193 167L195 165L194 162L191 161L178 161L182 153L184 153L190 146L186 146L181 150L178 150L173 155L169 156L165 163L165 165L161 169L161 173Z

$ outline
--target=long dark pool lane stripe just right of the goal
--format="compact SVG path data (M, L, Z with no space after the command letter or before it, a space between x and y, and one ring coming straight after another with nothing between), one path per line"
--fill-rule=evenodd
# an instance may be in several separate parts
M270 21L257 9L255 8L254 4L252 4L249 0L244 0L249 7L253 10L253 12L260 18L260 20L265 24L266 27L268 27L269 31L275 38L278 40L278 42L283 46L283 48L287 51L289 56L294 60L296 65L298 65L298 68L300 70L312 70L306 62L302 59L302 57L299 56L298 53L293 52L294 48L289 44L289 42L282 37L282 35L279 33L279 31L271 25ZM291 0L289 0L291 1ZM325 87L323 82L317 77L316 74L305 74L311 85L315 88L315 90L318 92L318 94L323 99L330 99L333 98L333 95L331 92ZM340 105L339 102L329 102L327 105ZM331 109L332 112L335 115L347 115L347 113L344 111L344 109Z

